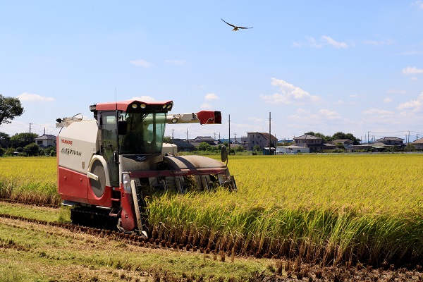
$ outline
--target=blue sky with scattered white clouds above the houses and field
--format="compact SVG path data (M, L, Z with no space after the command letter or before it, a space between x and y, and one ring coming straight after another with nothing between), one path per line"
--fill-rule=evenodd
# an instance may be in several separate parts
M232 31L221 21L249 30ZM166 135L308 131L423 137L423 1L4 1L0 94L25 113L0 131L57 134L90 104L173 100L222 125Z

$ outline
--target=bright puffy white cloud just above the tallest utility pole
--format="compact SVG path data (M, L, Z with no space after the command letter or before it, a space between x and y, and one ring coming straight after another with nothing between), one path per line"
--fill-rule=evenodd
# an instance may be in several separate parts
M266 103L301 104L306 102L318 102L320 99L319 96L309 94L309 92L302 90L300 87L296 87L284 80L271 78L271 85L278 86L281 90L281 93L260 95L260 99L263 99Z

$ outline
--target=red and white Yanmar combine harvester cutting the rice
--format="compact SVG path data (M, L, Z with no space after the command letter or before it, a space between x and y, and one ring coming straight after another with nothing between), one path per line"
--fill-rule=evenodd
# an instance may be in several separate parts
M147 235L145 197L188 188L236 189L224 162L175 156L164 144L166 123L221 123L220 111L168 114L167 102L124 101L90 106L94 120L58 118L58 185L75 224ZM78 116L78 115L77 115Z

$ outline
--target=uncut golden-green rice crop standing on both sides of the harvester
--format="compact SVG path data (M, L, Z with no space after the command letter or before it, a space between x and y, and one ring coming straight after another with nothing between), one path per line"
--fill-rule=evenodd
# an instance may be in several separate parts
M422 264L423 154L231 156L238 190L149 201L154 238L337 265ZM1 158L1 197L60 202L56 159Z

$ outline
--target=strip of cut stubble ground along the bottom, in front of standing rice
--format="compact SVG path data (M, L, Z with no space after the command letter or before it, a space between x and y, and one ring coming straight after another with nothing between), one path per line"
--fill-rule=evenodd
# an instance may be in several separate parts
M140 247L102 232L45 220L58 209L1 203L31 218L0 216L1 281L422 281L422 266L312 265L300 260L225 257ZM44 216L44 219L43 219ZM11 280L13 279L13 280Z

